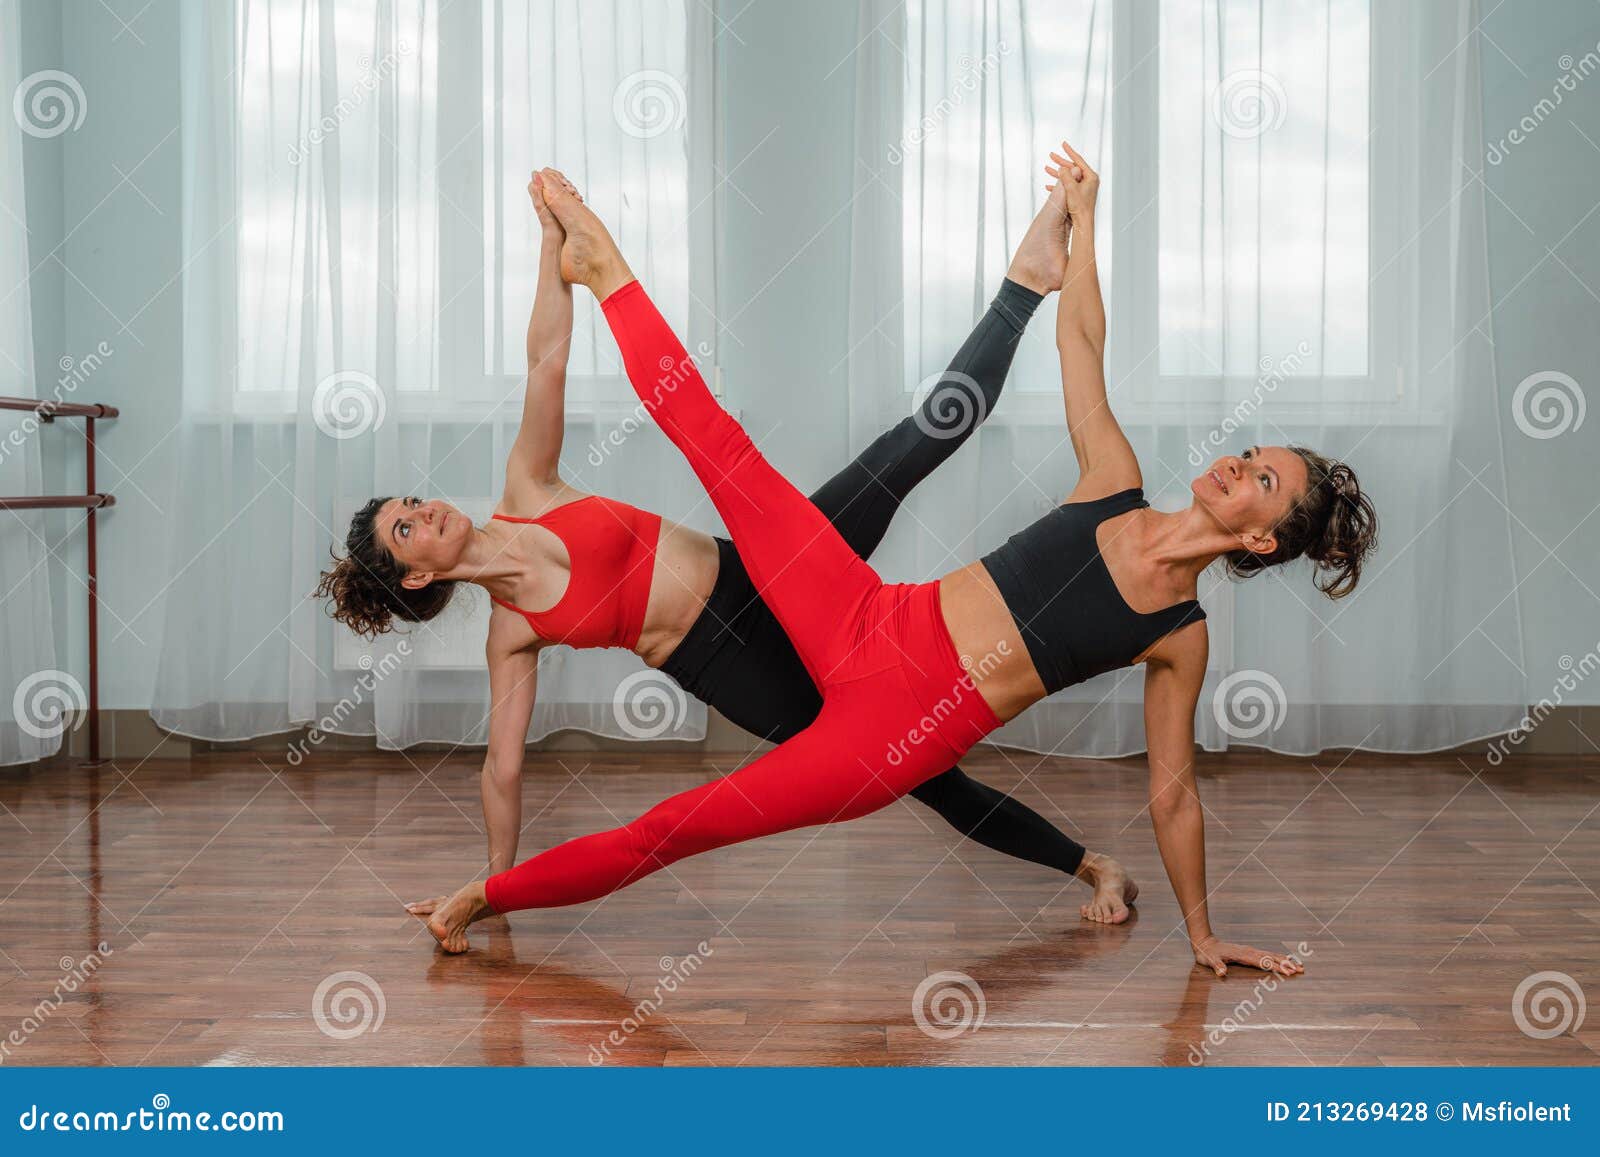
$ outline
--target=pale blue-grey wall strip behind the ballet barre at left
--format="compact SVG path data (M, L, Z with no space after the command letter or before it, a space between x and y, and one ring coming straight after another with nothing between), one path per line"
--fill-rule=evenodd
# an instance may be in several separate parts
M98 482L117 496L99 536L101 701L146 707L173 512L173 443L163 437L178 419L182 350L178 6L27 0L22 70L37 69L72 74L86 98L80 128L29 142L24 155L40 392L61 376L59 358L110 347L72 394L122 408L96 430ZM77 429L59 422L46 432L51 490L83 486ZM85 592L64 566L83 573L82 522L62 512L53 534L62 558L53 574L58 651L77 672L88 669Z

